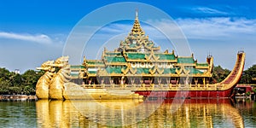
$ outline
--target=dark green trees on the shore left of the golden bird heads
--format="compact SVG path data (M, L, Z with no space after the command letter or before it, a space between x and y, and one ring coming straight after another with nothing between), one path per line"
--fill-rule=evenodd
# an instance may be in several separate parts
M0 68L0 95L3 94L36 94L36 84L44 72L27 70L23 74L9 72L5 68Z

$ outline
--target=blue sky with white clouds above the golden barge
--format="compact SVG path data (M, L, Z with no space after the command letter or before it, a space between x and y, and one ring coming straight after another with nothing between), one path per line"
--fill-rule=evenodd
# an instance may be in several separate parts
M236 62L236 53L243 49L246 56L245 69L256 63L256 1L248 0L179 0L164 1L123 1L146 3L160 9L172 17L180 27L189 43L189 48L199 62L205 62L210 53L214 58L214 65L220 65L232 70ZM68 38L86 15L108 4L121 1L77 0L77 1L49 1L49 0L9 0L0 1L0 67L10 71L20 69L24 73L28 69L40 67L44 61L55 60L67 47ZM153 27L165 27L168 20L160 20L154 12L148 15L140 7L139 19L143 30L160 45L163 50L175 49L161 38L160 32ZM124 15L105 13L103 19L109 17L125 17L135 15L135 11L121 8L113 9L125 12ZM142 11L140 11L142 10ZM129 15L130 14L130 15ZM144 15L143 15L144 14ZM145 15L146 14L146 15ZM97 16L97 15L96 15ZM90 19L92 22L101 20ZM153 27L147 23L154 22ZM94 38L90 38L90 46L84 48L83 55L94 59L93 55L101 55L102 44L118 47L119 40L125 38L131 31L132 20L119 20L103 26ZM89 30L84 30L84 33ZM83 31L81 31L83 32ZM84 34L86 36L86 34ZM102 37L101 37L102 36ZM107 40L107 41L106 41ZM73 44L73 50L79 46ZM112 49L112 48L108 48Z

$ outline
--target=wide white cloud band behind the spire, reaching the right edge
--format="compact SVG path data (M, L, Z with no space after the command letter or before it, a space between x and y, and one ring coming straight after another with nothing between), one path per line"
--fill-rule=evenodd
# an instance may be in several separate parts
M153 39L166 39L161 32L168 32L171 38L183 38L177 32L182 31L189 39L235 39L235 38L254 38L256 37L256 20L245 18L201 18L201 19L176 19L174 20L148 20L153 26L141 24L143 30ZM167 27L168 26L168 27ZM97 33L97 38L111 38L119 34L128 34L131 31L131 24L111 24L102 27ZM160 30L157 30L159 28ZM166 30L168 29L168 30ZM165 30L165 31L162 31ZM255 38L256 39L256 38Z

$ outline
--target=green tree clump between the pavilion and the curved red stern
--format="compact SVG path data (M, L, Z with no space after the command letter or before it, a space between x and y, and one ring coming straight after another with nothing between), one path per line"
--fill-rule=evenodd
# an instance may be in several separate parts
M213 67L213 70L212 70L212 81L213 81L213 83L221 82L225 78L227 78L229 74L230 74L230 70L229 69L224 69L224 68L222 68L220 66Z

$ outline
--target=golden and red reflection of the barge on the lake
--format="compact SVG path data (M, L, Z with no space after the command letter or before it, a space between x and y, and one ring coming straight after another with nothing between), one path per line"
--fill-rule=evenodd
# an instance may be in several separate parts
M160 106L138 100L36 102L39 127L244 127L229 99L187 99L180 105L172 100Z

